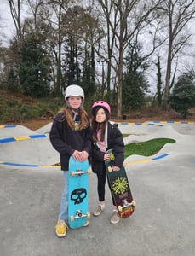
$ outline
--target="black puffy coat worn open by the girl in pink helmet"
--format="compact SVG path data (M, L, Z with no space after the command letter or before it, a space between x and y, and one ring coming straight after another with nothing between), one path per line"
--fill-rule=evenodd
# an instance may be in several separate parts
M118 129L116 124L112 125L108 122L107 126L107 148L113 149L113 154L115 156L115 160L113 162L114 166L121 167L123 166L124 160L124 143L123 143L123 135L121 131ZM96 143L92 140L91 145L91 166L92 170L95 173L102 173L104 168L104 152L100 151L100 148L96 145Z

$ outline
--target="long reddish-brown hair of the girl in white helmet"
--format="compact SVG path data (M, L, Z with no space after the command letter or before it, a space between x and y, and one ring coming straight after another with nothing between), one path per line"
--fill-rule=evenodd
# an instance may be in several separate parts
M60 109L60 113L64 113L62 118L60 119L63 122L65 119L68 125L74 130L75 123L72 119L72 108L65 107ZM84 108L79 109L79 114L81 115L81 124L79 125L79 130L86 129L89 126L88 113L84 110Z

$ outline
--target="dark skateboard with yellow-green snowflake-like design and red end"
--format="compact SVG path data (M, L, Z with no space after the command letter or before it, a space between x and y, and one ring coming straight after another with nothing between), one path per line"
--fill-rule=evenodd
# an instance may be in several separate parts
M118 214L121 218L127 218L134 212L136 204L131 194L129 180L123 166L118 172L112 171L112 163L114 160L112 149L107 150L106 154L111 154L111 160L105 162L106 173L108 182L111 184L112 195L118 207Z

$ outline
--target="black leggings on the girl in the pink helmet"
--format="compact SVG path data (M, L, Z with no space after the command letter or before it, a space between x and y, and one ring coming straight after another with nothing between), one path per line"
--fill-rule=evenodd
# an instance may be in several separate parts
M97 180L98 180L97 190L98 190L99 201L105 201L105 184L106 184L106 167L105 166L103 166L102 174L97 174ZM107 179L107 183L112 195L111 184L109 183L108 179ZM112 203L113 203L113 206L116 205L113 195L112 195Z

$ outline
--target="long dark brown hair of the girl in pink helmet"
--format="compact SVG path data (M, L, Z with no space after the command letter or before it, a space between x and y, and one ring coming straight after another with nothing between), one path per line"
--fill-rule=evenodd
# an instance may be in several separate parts
M103 123L101 123L101 124L96 122L95 121L96 115L97 115L97 112L98 112L98 110L100 108L102 108L102 107L97 107L97 108L94 109L95 113L94 113L94 116L92 117L92 120L91 120L91 129L92 129L92 132L93 132L93 139L94 139L95 143L98 140L98 138L97 138L97 131L99 129L101 129L100 130L100 141L103 142L105 140L106 126L107 126L107 122L108 122L108 120L110 118L110 114L108 113L108 111L105 108L103 108L105 113L106 113L106 120Z

